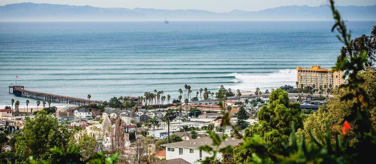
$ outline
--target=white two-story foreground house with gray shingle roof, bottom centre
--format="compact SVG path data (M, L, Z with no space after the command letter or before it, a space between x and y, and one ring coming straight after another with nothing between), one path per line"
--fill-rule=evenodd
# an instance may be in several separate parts
M210 137L202 137L198 139L191 139L180 142L166 143L161 146L166 147L166 160L182 158L192 164L200 164L205 157L212 157L222 159L222 154L219 149L225 148L227 145L236 146L243 142L241 139L226 139L218 148L208 153L199 150L200 146L212 145L213 141Z

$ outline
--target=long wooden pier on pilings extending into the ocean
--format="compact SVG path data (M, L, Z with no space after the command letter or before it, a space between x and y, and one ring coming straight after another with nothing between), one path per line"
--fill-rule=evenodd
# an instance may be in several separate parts
M43 92L35 92L24 89L24 86L9 86L9 93L13 88L13 94L20 97L33 98L43 101L51 100L56 103L73 104L73 105L88 105L95 103L101 105L103 101L88 100L84 98L69 97L64 95L49 94Z

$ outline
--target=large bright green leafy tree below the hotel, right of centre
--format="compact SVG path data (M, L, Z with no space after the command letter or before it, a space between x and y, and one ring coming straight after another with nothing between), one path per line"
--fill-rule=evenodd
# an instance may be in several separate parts
M259 122L252 126L252 129L246 129L244 140L252 140L253 135L259 135L262 143L269 147L272 153L282 153L283 143L287 143L291 125L297 125L301 128L303 125L301 117L300 104L290 103L288 93L278 88L271 92L269 96L269 105L262 106L258 112ZM250 148L252 149L252 148ZM246 162L247 153L239 148L235 149L236 161Z

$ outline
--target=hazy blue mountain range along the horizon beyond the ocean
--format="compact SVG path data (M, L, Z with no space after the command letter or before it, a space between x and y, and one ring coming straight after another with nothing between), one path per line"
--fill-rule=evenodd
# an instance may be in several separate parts
M337 6L343 19L376 21L376 5ZM331 21L327 5L281 6L257 12L101 8L62 4L14 3L0 6L0 21Z

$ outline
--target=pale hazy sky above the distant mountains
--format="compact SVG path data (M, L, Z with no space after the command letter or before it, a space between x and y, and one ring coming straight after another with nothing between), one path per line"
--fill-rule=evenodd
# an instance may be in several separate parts
M172 10L199 9L213 12L228 12L234 9L258 11L288 5L320 6L328 4L327 0L0 0L0 6L21 2L123 7L129 9L136 7ZM376 4L376 0L336 0L335 2L338 6L368 6Z

